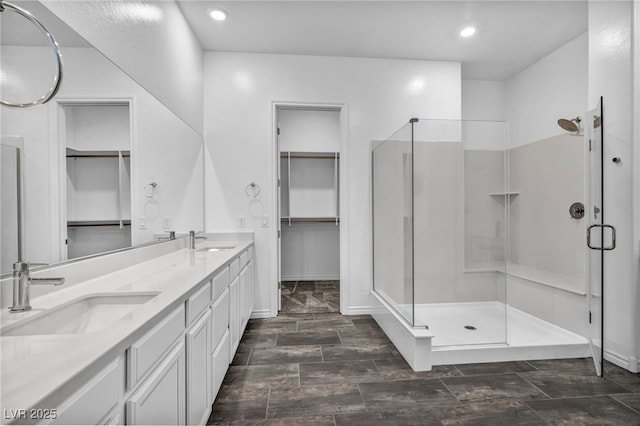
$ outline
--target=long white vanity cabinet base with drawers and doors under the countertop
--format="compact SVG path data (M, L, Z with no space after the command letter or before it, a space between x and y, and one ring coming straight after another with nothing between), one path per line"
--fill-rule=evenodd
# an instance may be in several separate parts
M252 308L249 247L204 277L44 423L206 424Z

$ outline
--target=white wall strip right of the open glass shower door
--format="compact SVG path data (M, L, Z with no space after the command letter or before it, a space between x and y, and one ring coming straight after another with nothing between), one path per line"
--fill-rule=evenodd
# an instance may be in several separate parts
M609 360L638 371L638 240L633 238L631 157L638 111L632 109L632 20L630 1L589 2L589 105L603 96L603 213L618 236L616 249L605 254L604 262L604 348ZM612 163L615 156L622 162Z

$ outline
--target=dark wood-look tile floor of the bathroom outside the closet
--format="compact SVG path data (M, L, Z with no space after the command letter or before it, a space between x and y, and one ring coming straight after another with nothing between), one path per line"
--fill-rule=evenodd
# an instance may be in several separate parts
M212 425L640 425L640 375L591 359L416 373L368 315L251 320Z

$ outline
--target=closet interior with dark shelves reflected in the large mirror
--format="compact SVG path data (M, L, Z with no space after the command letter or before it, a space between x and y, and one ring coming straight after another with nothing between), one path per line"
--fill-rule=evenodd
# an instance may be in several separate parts
M67 258L131 246L129 103L78 102L61 114Z

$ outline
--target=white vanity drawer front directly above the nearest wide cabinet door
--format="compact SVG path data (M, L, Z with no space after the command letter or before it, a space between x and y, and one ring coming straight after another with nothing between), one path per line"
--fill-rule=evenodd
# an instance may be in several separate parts
M184 333L184 304L171 312L127 351L127 388L133 388Z

